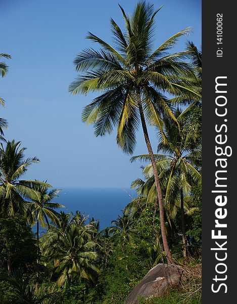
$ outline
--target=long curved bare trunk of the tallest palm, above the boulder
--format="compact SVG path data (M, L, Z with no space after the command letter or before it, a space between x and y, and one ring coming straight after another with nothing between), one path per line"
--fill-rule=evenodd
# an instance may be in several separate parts
M143 106L141 105L140 100L138 100L137 103L138 103L138 107L139 107L141 126L143 127L143 133L144 133L145 141L147 144L148 152L149 152L149 155L151 158L151 163L152 163L155 182L156 182L157 197L158 197L159 209L160 209L161 236L162 236L162 240L163 240L164 250L165 250L165 254L167 256L168 264L174 264L174 261L172 259L172 256L171 256L171 253L169 250L169 245L168 245L166 231L165 231L165 215L164 215L164 207L163 207L163 203L162 203L162 191L161 191L161 186L160 186L160 181L159 181L159 174L158 174L158 170L157 170L157 166L156 166L156 160L154 157L152 145L151 145L149 135L148 135Z

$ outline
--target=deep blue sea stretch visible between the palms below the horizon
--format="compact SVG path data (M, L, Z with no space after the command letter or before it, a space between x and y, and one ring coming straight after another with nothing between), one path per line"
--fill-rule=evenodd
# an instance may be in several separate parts
M77 210L89 218L100 220L100 230L110 226L111 221L122 214L125 206L136 197L130 188L62 188L54 202L66 206L64 212Z

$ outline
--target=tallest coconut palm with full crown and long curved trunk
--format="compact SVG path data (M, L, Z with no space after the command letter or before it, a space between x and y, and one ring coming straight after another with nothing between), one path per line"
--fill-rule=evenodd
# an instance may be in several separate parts
M168 262L173 262L165 233L162 192L147 123L159 125L162 129L164 115L176 122L171 104L163 93L190 95L192 98L200 96L192 83L193 73L184 61L187 51L168 54L178 38L189 29L174 34L154 50L155 16L161 8L155 11L153 5L139 2L131 17L120 9L125 33L111 19L117 50L89 32L87 39L98 43L102 49L86 49L77 55L74 64L81 74L70 85L69 91L74 95L103 92L85 106L82 120L94 125L96 136L110 134L117 126L117 144L126 153L133 152L141 122L156 179L164 248ZM194 89L189 89L190 86Z

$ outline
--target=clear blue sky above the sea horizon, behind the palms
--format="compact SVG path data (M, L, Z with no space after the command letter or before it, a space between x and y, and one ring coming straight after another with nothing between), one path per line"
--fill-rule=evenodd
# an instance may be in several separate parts
M129 187L141 177L140 163L130 164L115 143L115 134L95 137L92 126L81 122L81 110L92 95L71 96L68 86L76 77L73 59L86 47L88 31L111 43L110 17L121 27L119 4L132 13L137 1L0 0L1 53L12 55L9 73L0 79L6 107L0 117L9 122L8 140L22 141L26 156L37 156L25 178L45 180L54 187ZM191 26L180 40L201 45L201 0L151 1L163 5L156 18L159 46L174 33ZM7 60L6 60L7 61ZM155 130L151 140L156 150ZM147 153L141 132L134 155Z

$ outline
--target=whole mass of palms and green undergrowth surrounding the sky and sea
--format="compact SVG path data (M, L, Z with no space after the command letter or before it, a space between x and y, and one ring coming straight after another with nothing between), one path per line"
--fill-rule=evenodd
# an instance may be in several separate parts
M181 264L193 276L164 298L139 303L201 301L202 53L192 42L171 52L189 28L154 47L161 8L139 2L128 16L119 7L124 31L111 19L114 46L88 33L100 49L76 56L69 91L96 93L82 121L96 136L116 128L124 153L133 154L141 125L147 151L131 157L144 162L143 178L131 181L136 196L103 230L99 219L65 212L59 189L23 179L39 159L25 159L21 142L5 139L0 119L0 303L122 304L158 263ZM0 62L1 76L7 71Z

